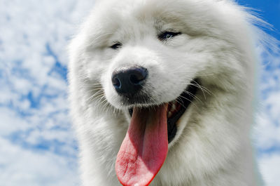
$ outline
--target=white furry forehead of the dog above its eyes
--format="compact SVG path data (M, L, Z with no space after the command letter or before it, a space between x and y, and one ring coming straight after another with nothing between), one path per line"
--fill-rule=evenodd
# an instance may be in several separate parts
M166 31L217 37L235 25L223 21L232 11L229 5L214 0L104 0L95 6L84 30L87 40L97 47L116 41L141 41L145 36L154 37ZM217 28L221 22L223 26Z

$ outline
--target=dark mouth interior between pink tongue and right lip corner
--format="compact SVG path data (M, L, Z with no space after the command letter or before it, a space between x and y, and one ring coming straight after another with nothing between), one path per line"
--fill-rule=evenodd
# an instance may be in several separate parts
M190 102L195 98L197 89L199 87L198 80L190 82L190 85L186 88L181 95L175 100L168 102L167 109L167 131L168 131L168 142L172 142L177 132L177 121L181 118L186 109L190 105ZM129 109L130 116L132 116L133 109Z

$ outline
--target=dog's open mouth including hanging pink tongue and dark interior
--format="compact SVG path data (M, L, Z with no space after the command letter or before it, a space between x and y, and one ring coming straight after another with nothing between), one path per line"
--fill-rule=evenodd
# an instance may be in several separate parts
M149 185L160 171L176 124L197 93L196 82L172 102L130 109L132 119L116 159L116 173L123 185Z

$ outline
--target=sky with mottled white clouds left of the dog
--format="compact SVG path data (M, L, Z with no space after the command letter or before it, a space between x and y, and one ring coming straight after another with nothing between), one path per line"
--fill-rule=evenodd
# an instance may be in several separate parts
M78 185L66 81L55 63L66 67L68 39L93 3L0 2L1 185Z

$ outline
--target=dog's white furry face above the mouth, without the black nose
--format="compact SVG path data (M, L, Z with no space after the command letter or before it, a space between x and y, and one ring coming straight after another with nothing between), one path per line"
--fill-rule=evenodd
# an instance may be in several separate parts
M228 25L216 28L220 15L211 15L194 1L116 1L95 11L92 29L87 30L85 69L118 109L175 100L194 79L221 73L223 51L235 51L223 36ZM135 67L146 69L147 77L130 98L116 91L112 78L121 69Z

